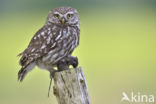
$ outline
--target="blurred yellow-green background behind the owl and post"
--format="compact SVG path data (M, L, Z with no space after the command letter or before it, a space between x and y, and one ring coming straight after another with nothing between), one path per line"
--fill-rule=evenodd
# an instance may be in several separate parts
M0 0L0 104L57 104L52 93L47 97L47 71L35 68L17 82L16 56L58 6L79 11L74 55L92 104L127 104L122 92L156 96L155 0Z

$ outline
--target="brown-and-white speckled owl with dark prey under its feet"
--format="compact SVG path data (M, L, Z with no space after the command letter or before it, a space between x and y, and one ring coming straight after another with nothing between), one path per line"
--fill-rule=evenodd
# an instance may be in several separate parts
M77 67L78 59L72 56L72 52L79 45L79 35L80 20L76 9L58 7L50 11L45 25L19 54L18 80L23 81L35 66L48 70L51 77L56 72L55 67L58 70L65 70L69 65Z

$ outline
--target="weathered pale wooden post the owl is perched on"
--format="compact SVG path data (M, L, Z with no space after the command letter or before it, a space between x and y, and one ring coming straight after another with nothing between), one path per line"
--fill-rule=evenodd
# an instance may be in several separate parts
M56 72L53 91L58 104L90 104L86 80L80 67Z

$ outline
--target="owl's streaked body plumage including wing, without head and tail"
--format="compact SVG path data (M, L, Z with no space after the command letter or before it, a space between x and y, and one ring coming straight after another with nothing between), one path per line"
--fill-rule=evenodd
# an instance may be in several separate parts
M37 60L54 64L72 53L79 44L79 29L44 26L32 38L28 47L19 54L24 68Z

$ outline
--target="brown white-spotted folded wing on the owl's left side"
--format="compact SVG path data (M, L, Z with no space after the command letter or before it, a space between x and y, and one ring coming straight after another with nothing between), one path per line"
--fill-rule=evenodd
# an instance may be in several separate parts
M46 55L49 50L54 49L56 47L56 43L53 40L54 36L52 34L49 36L48 29L46 27L42 27L38 30L30 41L28 47L24 52L19 54L19 56L21 56L19 61L20 65L22 67L27 67L30 63Z

